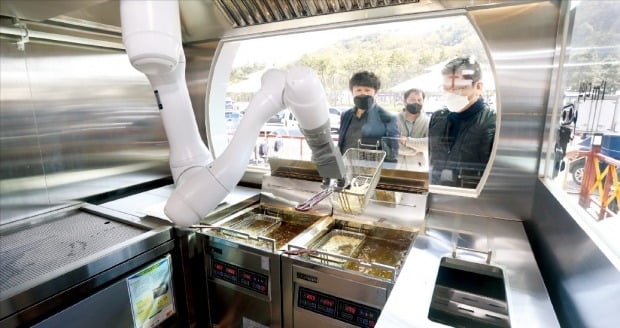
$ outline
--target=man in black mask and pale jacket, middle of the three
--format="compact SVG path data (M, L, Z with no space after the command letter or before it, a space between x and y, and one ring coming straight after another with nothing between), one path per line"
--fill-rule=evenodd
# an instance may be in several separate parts
M428 116L422 111L424 91L409 89L405 92L405 108L398 114L400 149L398 168L403 170L427 171Z

